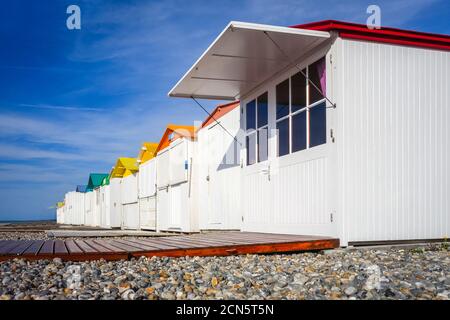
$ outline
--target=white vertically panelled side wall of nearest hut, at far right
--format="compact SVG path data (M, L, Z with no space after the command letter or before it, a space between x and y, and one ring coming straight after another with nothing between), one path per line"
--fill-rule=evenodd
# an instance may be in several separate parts
M343 40L343 242L450 234L450 53Z

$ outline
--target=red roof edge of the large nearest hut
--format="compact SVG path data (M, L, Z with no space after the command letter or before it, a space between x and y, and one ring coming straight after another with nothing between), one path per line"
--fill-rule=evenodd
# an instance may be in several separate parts
M324 20L292 26L318 31L336 31L341 38L365 40L412 47L450 50L450 36L389 27L369 29L364 24Z

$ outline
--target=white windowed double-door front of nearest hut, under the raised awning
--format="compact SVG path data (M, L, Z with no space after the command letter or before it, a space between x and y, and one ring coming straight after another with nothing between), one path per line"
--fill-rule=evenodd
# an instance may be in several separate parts
M299 80L295 81L298 88ZM281 79L244 103L241 126L250 129L241 154L243 230L334 236L335 192L330 190L336 186L332 165L336 159L328 134L334 111L325 107L324 100L311 108L293 108L292 83L292 78L287 83ZM280 103L276 94L286 97ZM267 120L259 119L261 110L267 110Z

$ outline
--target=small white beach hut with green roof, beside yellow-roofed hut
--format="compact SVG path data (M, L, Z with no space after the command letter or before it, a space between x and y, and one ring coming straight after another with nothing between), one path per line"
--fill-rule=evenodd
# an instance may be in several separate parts
M101 197L100 186L107 173L91 173L85 193L86 225L91 227L100 226Z

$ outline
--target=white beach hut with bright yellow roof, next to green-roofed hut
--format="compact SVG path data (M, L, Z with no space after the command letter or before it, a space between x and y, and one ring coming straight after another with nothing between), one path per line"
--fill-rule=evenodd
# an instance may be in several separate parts
M139 229L139 204L137 173L139 171L136 158L119 158L110 176L111 197L115 201L116 210L120 210L121 227L123 229ZM120 204L120 208L116 205Z

